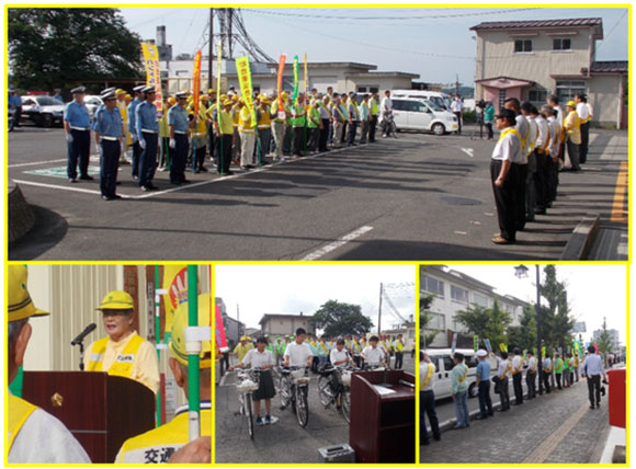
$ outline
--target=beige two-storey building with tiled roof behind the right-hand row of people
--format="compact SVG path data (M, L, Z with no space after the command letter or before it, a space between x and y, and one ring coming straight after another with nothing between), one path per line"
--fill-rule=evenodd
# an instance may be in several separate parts
M597 61L603 39L600 18L485 22L476 33L475 98L499 110L508 98L545 104L556 94L564 105L588 94L592 125L626 128L623 94L627 61Z

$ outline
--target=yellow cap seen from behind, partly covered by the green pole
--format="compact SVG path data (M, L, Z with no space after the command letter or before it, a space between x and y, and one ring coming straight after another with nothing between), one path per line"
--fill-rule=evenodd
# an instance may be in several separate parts
M212 325L212 298L209 294L198 295L198 325ZM188 365L188 353L185 352L184 329L188 328L188 301L182 302L174 311L172 320L172 339L168 348L172 356L182 365ZM212 367L212 334L209 341L202 343L198 361L200 368Z

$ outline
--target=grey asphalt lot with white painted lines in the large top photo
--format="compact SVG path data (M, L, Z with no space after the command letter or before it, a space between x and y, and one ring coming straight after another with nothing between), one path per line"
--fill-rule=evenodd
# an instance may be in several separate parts
M66 181L61 129L24 127L9 135L9 178L35 206L37 222L9 247L9 259L556 260L584 215L611 219L627 158L626 148L609 153L616 135L593 131L589 162L581 173L560 174L555 206L516 244L497 247L493 142L466 134L399 134L223 180L190 174L189 186L172 186L158 172L161 191L152 193L140 192L124 165L118 193L127 198L103 202L96 180Z

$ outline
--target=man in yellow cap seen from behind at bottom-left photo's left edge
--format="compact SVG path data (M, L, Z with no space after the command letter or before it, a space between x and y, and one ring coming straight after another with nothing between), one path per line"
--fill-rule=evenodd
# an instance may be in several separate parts
M47 316L33 305L26 288L26 267L8 267L8 373L9 382L18 376L31 339L30 318ZM9 393L7 407L9 464L90 464L78 441L55 416Z

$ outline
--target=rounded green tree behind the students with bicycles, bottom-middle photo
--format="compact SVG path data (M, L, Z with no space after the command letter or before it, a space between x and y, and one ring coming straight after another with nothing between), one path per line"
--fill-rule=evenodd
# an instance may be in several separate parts
M371 331L373 321L362 313L360 305L350 305L330 299L311 318L316 329L325 335L362 334Z

